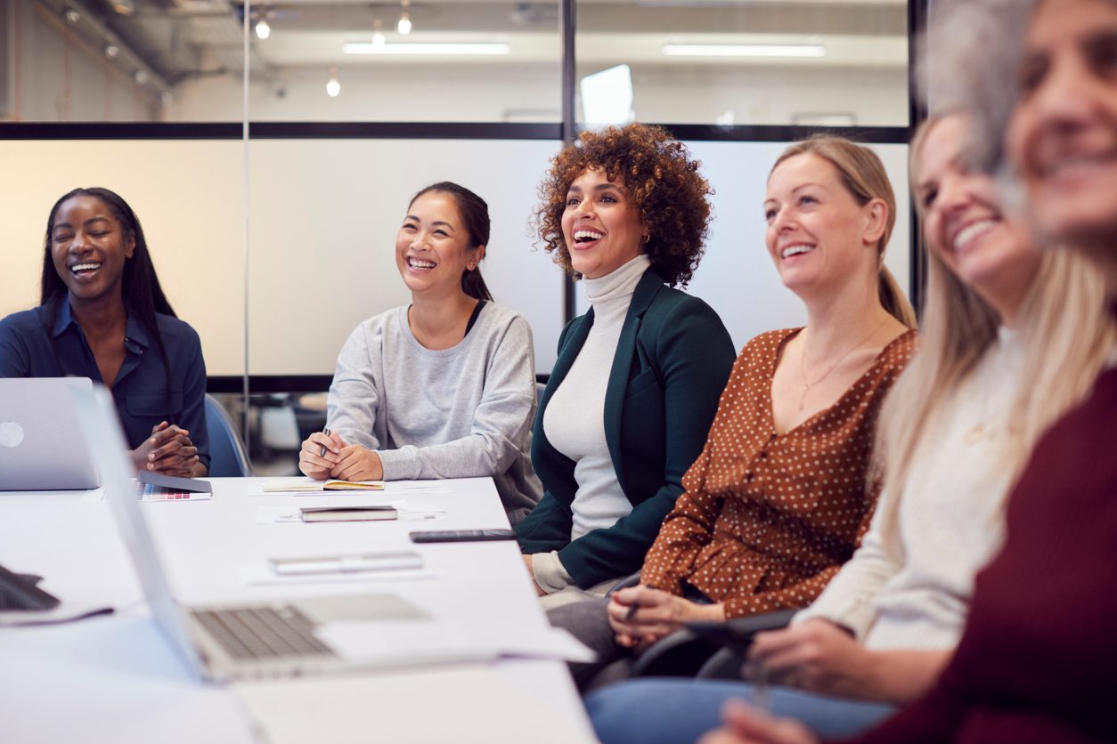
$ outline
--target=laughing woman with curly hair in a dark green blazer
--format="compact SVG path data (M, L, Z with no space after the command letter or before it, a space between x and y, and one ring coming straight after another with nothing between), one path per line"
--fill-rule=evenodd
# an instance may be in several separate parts
M733 342L686 284L709 184L658 127L583 134L540 189L540 239L590 310L558 339L535 418L545 494L516 532L545 607L602 596L643 562L701 451Z

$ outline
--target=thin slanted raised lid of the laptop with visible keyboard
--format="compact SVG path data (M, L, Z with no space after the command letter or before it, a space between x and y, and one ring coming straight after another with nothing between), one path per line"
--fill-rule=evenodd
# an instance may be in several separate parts
M182 609L171 595L155 541L136 501L135 485L132 483L135 473L127 456L128 446L116 416L113 396L101 385L87 385L85 389L71 390L69 397L74 402L79 431L85 439L83 446L88 448L89 455L101 466L105 501L132 557L155 624L190 669L201 678L202 660L187 629Z

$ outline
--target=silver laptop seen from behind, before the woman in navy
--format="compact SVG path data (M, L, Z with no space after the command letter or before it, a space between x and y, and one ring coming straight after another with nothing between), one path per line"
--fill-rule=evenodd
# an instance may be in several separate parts
M0 379L0 491L97 487L70 388L93 385L88 377Z

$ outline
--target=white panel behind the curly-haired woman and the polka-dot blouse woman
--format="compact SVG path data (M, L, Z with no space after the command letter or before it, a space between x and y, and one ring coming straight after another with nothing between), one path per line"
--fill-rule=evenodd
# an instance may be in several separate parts
M786 289L764 247L764 191L767 174L786 143L687 143L714 186L714 218L706 255L687 291L706 300L725 322L741 349L748 339L773 328L806 321L802 302ZM896 191L896 229L885 263L908 289L910 218L907 145L872 145ZM577 311L589 307L580 288Z

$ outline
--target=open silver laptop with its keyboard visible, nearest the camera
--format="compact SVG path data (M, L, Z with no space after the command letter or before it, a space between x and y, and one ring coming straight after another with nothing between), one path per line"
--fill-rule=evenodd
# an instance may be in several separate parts
M391 593L237 605L180 605L171 595L154 539L136 501L131 481L133 473L112 397L97 386L74 393L73 398L89 451L101 464L105 500L135 564L152 615L198 676L219 680L286 677L424 663L476 661L495 656L479 647L437 642L440 628L430 616ZM346 656L319 632L330 622L369 620L427 624L431 642L421 646L393 642L388 631L390 626L385 625L382 649Z

